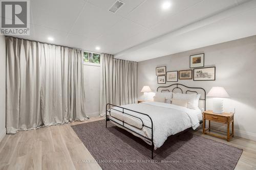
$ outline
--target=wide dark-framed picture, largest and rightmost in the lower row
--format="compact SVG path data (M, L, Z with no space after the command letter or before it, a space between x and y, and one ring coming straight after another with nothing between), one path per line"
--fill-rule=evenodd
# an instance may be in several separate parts
M194 68L194 81L215 80L216 68Z

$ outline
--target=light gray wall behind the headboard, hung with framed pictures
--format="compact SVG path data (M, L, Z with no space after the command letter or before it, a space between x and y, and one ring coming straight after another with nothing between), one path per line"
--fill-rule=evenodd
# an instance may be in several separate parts
M157 66L166 66L167 71L189 69L189 56L200 53L205 53L205 66L216 66L216 81L179 80L178 83L203 87L206 93L212 86L223 86L230 95L224 100L224 111L233 112L236 108L235 135L256 140L256 36L139 62L138 98L143 99L140 90L144 85L153 91L159 86ZM169 84L173 83L165 85ZM207 109L211 108L212 99L207 98Z

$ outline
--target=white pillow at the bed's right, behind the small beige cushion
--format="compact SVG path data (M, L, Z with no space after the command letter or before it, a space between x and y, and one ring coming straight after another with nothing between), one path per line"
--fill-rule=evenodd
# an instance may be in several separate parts
M187 100L187 108L189 109L197 109L198 102L201 94L181 94L181 93L173 93L173 99L185 99Z

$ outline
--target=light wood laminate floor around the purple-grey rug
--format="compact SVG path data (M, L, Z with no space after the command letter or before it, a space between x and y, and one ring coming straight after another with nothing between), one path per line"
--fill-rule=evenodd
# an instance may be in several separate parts
M95 160L71 128L100 119L6 135L0 143L0 169L101 169L97 163L81 162ZM202 135L202 128L193 133L243 149L236 169L256 169L255 141L234 137L227 142Z

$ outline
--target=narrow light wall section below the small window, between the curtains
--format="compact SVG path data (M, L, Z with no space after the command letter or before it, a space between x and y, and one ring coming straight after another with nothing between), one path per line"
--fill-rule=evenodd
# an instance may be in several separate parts
M86 90L86 113L89 117L98 116L100 67L83 65L83 75Z

